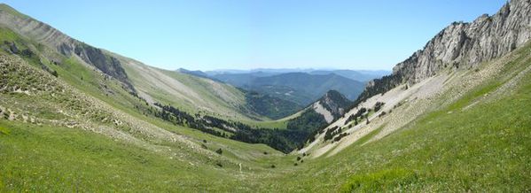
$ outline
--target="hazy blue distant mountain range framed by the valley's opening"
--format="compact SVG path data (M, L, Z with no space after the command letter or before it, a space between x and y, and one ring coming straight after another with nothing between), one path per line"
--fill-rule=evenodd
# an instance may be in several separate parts
M263 95L284 98L301 106L313 103L329 90L338 90L354 100L363 91L365 82L382 77L387 71L314 70L314 69L254 69L223 71L177 71L233 86L253 90Z

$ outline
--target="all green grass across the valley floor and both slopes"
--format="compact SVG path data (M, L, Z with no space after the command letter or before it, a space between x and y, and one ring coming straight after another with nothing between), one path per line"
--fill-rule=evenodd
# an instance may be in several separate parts
M7 33L2 38L18 37ZM137 145L79 128L0 118L0 191L531 191L531 73L504 96L483 97L529 66L530 49L515 51L503 73L456 103L378 141L367 143L381 128L330 158L303 157L303 163L263 144L239 143L146 117L133 108L143 102L118 82L102 81L90 68L63 58L62 65L51 67L83 94L185 135L192 143L206 140L208 150L222 149L223 154L204 155L178 143L143 138L144 145ZM28 75L7 80L35 81ZM102 83L113 91L111 97L99 88ZM0 97L2 105L53 120L65 118L53 107L75 106L68 104L72 96ZM242 173L238 164L244 166Z

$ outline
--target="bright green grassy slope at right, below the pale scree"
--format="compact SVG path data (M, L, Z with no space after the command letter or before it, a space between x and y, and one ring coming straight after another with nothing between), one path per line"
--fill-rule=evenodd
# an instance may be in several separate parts
M271 185L312 191L529 191L531 73L504 97L480 98L529 66L530 51L531 46L519 50L520 57L507 64L504 73L457 103L379 141L355 143L285 176L297 181Z

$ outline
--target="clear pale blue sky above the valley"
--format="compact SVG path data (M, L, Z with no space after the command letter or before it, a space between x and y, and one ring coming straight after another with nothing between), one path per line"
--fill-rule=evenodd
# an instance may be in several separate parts
M7 0L93 46L192 70L386 69L505 0Z

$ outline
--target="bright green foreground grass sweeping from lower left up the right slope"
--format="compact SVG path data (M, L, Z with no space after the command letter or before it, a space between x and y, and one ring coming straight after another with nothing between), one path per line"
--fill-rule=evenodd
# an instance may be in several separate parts
M520 59L509 64L503 76L511 77L531 62ZM234 166L190 166L77 129L2 122L0 130L10 135L0 134L0 161L4 163L0 166L0 181L6 190L304 189L324 192L361 184L360 188L354 188L362 191L526 191L531 189L531 73L506 96L461 111L498 88L504 79L493 80L472 90L457 103L426 114L379 141L355 143L331 158L303 158L305 162L299 166L291 166L293 157L270 157L269 160L267 156L256 157L246 164L274 163L277 168L254 169L244 174L238 174ZM237 142L225 144L246 146Z

